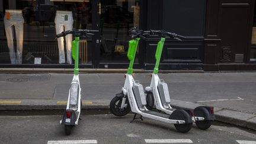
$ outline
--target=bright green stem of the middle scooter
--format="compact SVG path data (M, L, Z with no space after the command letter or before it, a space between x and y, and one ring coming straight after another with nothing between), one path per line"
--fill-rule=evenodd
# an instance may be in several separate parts
M139 40L140 40L140 38L129 40L129 49L128 49L127 57L130 60L130 64L129 64L129 68L128 68L128 71L127 71L128 74L133 73L133 63L134 63L134 60L135 60Z

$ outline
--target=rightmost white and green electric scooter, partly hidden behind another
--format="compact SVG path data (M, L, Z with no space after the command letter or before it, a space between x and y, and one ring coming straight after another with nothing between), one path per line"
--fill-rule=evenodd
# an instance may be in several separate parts
M167 114L172 114L175 109L170 105L171 99L169 96L167 84L163 79L159 79L158 77L158 67L164 47L165 37L170 37L180 41L181 39L185 39L185 37L175 33L169 33L168 31L164 30L152 31L153 33L161 34L161 40L158 42L155 53L156 63L152 73L151 85L150 87L145 88L147 101L146 107L149 110L152 110L153 106L155 105L157 110L164 111L164 113ZM192 120L196 123L199 129L208 129L212 125L214 119L215 115L213 112L213 107L200 106L194 109L194 116L192 117Z

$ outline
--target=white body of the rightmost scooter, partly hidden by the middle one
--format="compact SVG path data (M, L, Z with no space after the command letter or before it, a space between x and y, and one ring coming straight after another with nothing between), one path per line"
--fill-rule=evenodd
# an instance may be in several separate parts
M151 86L145 88L146 92L152 92L157 110L172 114L171 99L167 84L158 75L152 73ZM192 121L204 120L204 117L192 117Z

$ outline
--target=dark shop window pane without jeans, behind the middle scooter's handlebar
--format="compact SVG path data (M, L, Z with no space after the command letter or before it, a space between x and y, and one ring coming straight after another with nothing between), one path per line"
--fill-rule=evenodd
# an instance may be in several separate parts
M128 41L130 40L128 30L134 26L139 27L139 1L101 0L100 4L100 62L127 63ZM135 60L137 61L138 59Z

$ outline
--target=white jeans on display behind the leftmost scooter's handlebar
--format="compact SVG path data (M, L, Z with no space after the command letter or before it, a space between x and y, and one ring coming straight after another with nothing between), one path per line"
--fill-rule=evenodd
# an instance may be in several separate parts
M73 28L73 15L72 11L57 11L55 17L56 34L62 31L72 30ZM66 54L67 63L72 64L71 50L72 50L72 34L66 37ZM59 63L65 63L64 39L60 37L57 39L59 47Z

